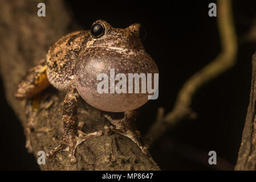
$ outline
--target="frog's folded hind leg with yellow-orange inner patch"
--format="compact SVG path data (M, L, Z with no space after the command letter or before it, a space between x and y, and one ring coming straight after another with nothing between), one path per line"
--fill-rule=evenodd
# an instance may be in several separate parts
M31 98L47 88L50 82L46 73L46 60L42 59L39 63L27 72L27 75L19 82L15 98L23 100Z

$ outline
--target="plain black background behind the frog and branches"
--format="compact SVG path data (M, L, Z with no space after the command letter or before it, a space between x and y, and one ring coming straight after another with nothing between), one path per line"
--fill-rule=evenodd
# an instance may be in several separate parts
M142 134L155 120L157 108L170 111L182 84L220 52L217 19L208 16L210 2L215 1L67 1L74 21L84 29L103 19L120 28L141 23L147 30L144 45L159 67L160 94L141 107L137 126ZM255 7L255 1L233 2L238 38L251 27ZM239 43L237 64L193 98L198 118L178 123L151 148L161 169L233 169L249 103L254 51L255 43ZM39 169L34 156L26 151L22 126L5 100L2 84L0 94L0 169ZM217 152L217 166L208 164L211 150ZM222 164L220 158L231 166Z

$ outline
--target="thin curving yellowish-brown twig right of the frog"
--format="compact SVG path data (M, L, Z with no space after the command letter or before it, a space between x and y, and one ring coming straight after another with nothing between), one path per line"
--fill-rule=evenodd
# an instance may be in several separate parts
M216 78L235 64L237 55L237 35L231 11L231 0L217 1L217 23L220 34L222 51L211 63L190 77L178 93L174 108L164 116L163 109L159 109L156 122L147 133L153 142L161 137L170 127L185 118L195 118L196 114L190 109L194 94L202 85Z

